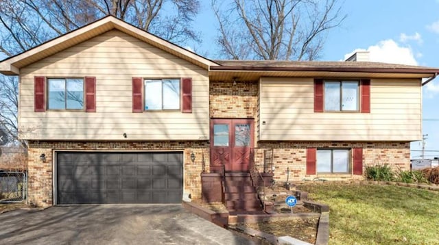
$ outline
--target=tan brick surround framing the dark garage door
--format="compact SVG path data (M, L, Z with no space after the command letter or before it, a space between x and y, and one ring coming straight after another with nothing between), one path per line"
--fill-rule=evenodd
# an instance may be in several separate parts
M184 192L191 198L201 198L202 161L209 171L209 142L29 142L28 156L28 198L38 207L53 205L53 160L56 151L183 151L185 183ZM41 154L46 161L40 160ZM195 162L191 162L191 153Z

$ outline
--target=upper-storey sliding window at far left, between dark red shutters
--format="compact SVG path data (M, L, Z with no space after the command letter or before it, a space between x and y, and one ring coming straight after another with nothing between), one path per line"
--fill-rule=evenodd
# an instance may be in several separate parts
M47 79L47 109L84 109L84 79Z

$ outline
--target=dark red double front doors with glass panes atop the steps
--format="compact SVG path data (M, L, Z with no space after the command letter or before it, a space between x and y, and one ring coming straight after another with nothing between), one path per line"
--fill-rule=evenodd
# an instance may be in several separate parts
M253 119L211 120L211 172L247 172L253 146Z

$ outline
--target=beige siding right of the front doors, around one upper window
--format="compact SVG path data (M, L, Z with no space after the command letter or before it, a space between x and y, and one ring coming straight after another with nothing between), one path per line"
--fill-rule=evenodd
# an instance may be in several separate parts
M370 83L370 113L315 113L312 78L261 78L259 139L420 140L420 79L371 79Z

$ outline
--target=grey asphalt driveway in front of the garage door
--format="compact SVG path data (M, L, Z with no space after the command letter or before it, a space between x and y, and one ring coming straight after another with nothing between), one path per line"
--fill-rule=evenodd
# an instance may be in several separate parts
M57 206L0 214L0 244L253 244L181 205Z

